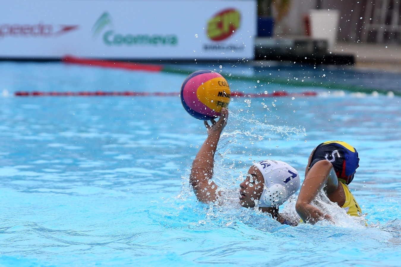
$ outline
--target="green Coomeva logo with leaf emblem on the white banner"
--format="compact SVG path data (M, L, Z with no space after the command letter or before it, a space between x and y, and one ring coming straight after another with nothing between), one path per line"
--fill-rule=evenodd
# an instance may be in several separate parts
M133 45L176 45L178 37L175 34L131 34L118 33L114 30L111 16L104 12L92 27L93 38L101 32L103 43L107 46Z

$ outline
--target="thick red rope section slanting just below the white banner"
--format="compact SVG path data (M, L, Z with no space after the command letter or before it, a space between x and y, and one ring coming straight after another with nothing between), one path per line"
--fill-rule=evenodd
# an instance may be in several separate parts
M146 70L146 71L160 72L163 69L163 66L156 64L144 64L144 63L87 59L87 58L84 59L73 56L65 56L62 60L65 63L71 63L71 64L99 66L107 68L122 68L126 70Z

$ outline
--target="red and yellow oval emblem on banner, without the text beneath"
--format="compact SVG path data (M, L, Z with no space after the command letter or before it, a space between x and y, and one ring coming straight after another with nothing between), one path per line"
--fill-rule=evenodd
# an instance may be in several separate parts
M207 22L207 36L214 41L224 40L239 28L240 22L241 15L238 10L225 9Z

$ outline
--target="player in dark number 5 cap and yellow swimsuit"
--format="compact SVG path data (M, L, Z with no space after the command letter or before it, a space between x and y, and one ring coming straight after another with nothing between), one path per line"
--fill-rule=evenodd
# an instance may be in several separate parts
M322 189L328 199L345 209L348 215L362 215L348 188L358 167L358 152L347 143L328 141L318 145L309 156L305 179L295 206L302 221L314 224L323 219L332 220L330 215L312 205Z

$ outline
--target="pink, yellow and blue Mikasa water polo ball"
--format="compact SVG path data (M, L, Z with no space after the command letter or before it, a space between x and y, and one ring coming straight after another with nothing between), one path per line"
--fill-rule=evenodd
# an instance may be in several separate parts
M221 74L198 70L186 77L181 86L181 102L194 118L211 120L221 115L230 102L230 87Z

